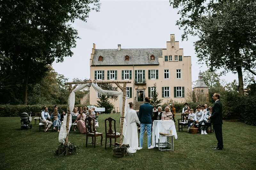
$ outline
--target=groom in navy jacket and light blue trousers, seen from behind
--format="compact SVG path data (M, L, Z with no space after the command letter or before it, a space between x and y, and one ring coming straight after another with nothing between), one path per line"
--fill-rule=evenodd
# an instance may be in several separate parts
M139 110L140 147L139 147L139 149L142 149L145 127L147 127L147 134L148 134L148 149L154 148L154 146L150 145L150 143L151 143L151 117L153 116L153 106L149 103L150 103L150 99L149 99L149 97L146 97L145 103L140 105L140 110Z

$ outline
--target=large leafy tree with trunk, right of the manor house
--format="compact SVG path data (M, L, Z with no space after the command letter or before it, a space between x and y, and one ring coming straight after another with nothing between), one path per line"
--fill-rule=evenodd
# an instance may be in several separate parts
M174 8L184 6L177 24L188 34L198 36L195 50L199 61L211 71L225 68L238 74L238 94L244 95L243 70L256 75L256 2L173 0Z

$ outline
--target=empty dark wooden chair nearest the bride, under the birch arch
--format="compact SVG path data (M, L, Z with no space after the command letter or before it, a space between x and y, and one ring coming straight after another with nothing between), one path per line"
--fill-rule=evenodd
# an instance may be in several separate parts
M108 126L107 126L107 121L108 121ZM114 123L114 131L112 131L112 122ZM105 149L106 149L108 138L110 140L110 144L108 145L111 147L111 145L113 145L111 143L112 138L115 139L115 143L116 143L116 139L120 137L120 134L116 132L116 120L113 119L112 117L108 117L107 119L105 119L105 133L106 133L106 140L105 140ZM113 146L115 146L115 143Z

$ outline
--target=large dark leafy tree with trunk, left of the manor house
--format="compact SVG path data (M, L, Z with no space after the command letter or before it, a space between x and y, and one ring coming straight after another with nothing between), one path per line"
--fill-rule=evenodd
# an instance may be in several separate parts
M44 77L46 66L54 60L62 62L72 56L71 48L76 47L79 37L69 23L86 21L89 12L99 8L99 0L0 2L0 57L4 61L0 74L19 77L23 104L27 104L29 81ZM4 89L13 89L9 82L0 83Z

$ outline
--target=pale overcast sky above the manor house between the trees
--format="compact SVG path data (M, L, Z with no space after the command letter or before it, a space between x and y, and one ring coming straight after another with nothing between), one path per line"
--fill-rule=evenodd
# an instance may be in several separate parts
M117 44L121 44L121 48L166 48L170 34L175 34L184 56L191 56L192 82L198 80L199 71L207 70L206 65L197 62L193 46L197 38L189 36L182 41L183 30L176 25L180 15L169 0L101 0L100 3L100 11L91 11L87 22L76 20L72 24L81 38L76 39L73 56L52 65L68 81L90 78L93 43L96 49L117 49ZM238 78L237 74L228 73L220 79L232 82Z

